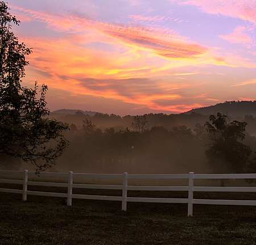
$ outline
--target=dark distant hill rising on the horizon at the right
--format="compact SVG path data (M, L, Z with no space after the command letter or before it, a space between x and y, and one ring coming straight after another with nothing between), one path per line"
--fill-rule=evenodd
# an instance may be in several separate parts
M199 113L201 115L212 115L220 112L228 116L239 117L245 115L256 116L256 100L251 101L232 101L224 102L209 107L202 107L192 109L191 111L185 112L185 114L191 114L192 112Z

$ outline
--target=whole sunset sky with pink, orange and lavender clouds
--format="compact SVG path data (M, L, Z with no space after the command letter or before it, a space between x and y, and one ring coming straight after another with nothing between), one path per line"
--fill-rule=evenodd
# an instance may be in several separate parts
M255 0L9 0L47 107L143 115L256 100Z

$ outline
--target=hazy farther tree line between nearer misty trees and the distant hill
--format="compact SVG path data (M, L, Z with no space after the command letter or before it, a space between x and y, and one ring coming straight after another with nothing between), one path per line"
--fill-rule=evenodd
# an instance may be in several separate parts
M214 115L217 113L209 113L209 115L211 114ZM256 136L255 116L241 114L240 117L230 117L229 113L224 114L232 120L246 122L246 132ZM193 130L195 129L196 124L204 125L205 122L209 120L209 115L192 112L170 115L164 113L148 113L144 114L143 116L147 121L146 127L148 129L152 128L153 126L163 126L164 128L171 129L173 126L185 125ZM76 111L73 114L51 112L49 114L49 118L65 122L69 125L75 124L79 129L82 127L84 120L92 121L97 128L102 130L105 128L114 128L116 131L130 128L131 124L134 123L134 116L131 115L121 117L115 114L108 115L107 113L99 112L94 113L94 115L89 115L81 111Z

